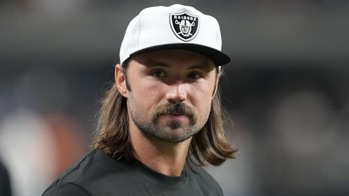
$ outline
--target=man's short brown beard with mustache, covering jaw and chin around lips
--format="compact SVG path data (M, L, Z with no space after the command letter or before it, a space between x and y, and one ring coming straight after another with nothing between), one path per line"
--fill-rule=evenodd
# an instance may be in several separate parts
M169 143L180 143L198 133L206 124L211 106L198 115L195 110L184 103L160 105L150 114L134 99L129 102L130 114L137 128L145 135ZM160 115L185 115L187 121L159 121ZM149 118L151 117L151 118Z

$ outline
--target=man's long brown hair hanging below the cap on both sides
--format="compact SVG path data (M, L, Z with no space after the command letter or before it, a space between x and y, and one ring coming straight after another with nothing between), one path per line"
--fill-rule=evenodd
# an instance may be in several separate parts
M127 65L123 67L127 77ZM126 101L115 83L106 91L97 113L97 129L91 147L104 151L112 158L123 157L128 160L132 157L133 149L128 130ZM225 139L223 118L225 116L218 90L212 100L211 112L205 126L191 140L188 159L191 160L193 156L201 166L205 166L206 162L218 166L228 158L235 158L238 149Z

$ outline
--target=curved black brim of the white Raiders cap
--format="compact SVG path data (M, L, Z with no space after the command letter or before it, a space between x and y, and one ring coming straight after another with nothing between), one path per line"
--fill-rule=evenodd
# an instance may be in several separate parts
M156 45L147 48L143 48L136 52L130 54L130 57L145 52L157 51L157 50L167 50L167 49L183 49L197 52L211 59L217 66L222 66L228 64L231 59L228 55L222 53L221 51L207 47L205 45L190 44L190 43L181 43L181 44L165 44L165 45Z

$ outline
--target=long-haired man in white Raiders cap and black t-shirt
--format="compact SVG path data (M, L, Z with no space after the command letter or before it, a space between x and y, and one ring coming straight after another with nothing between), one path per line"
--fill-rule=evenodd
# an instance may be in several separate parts
M179 33L181 20L191 24L189 36ZM144 9L127 27L93 151L43 195L223 195L200 167L237 151L222 128L217 88L230 58L221 44L212 16L178 4Z

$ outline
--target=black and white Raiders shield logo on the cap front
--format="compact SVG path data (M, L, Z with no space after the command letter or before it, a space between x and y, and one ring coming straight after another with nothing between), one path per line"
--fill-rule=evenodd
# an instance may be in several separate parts
M170 14L170 24L174 34L187 42L197 35L200 27L200 17L187 12Z

